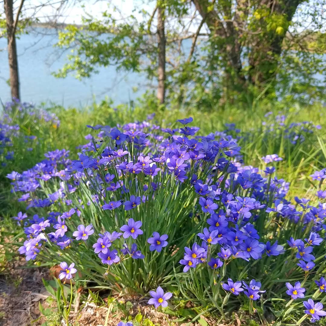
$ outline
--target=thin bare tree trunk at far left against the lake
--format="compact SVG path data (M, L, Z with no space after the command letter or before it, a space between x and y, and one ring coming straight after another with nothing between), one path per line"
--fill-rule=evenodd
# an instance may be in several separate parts
M15 37L15 24L13 17L13 0L4 0L4 7L7 22L8 60L11 96L20 99L17 47Z

